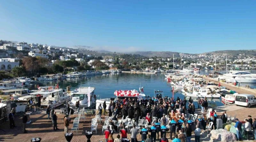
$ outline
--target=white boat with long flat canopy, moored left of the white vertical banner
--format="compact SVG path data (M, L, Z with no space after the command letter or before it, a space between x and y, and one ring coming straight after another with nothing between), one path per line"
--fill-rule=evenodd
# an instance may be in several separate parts
M56 108L62 104L70 101L70 96L62 89L44 90L39 92L30 93L31 95L42 95L41 106L50 105L51 108Z

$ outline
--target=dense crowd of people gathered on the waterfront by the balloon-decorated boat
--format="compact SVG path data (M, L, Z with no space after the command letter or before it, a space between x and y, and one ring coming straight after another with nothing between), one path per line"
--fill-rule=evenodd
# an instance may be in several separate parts
M103 106L106 106L105 102ZM208 102L206 98L198 99L198 108L201 109L201 112L207 111ZM98 108L99 111L102 111L101 109L105 111L105 108ZM144 117L151 126L150 128L144 128L144 126L142 126L140 130L141 138L142 141L150 139L152 142L156 142L156 140L160 140L160 142L168 141L166 138L167 131L170 131L170 139L175 142L191 142L192 132L194 131L195 141L200 142L200 133L205 131L206 126L210 122L213 122L212 129L218 129L218 126L216 126L217 118L222 119L223 123L227 122L226 112L222 112L222 115L219 117L217 116L216 111L212 109L210 112L210 118L207 118L206 115L202 115L198 116L195 121L188 118L185 123L186 116L184 114L195 113L195 105L191 98L188 100L188 104L185 98L182 100L179 97L176 100L167 97L153 97L145 100L141 99L140 101L139 99L124 98L123 100L118 99L115 102L112 101L108 107L108 111L109 116L114 114L114 119L116 119L115 116L124 116L124 118L128 116L129 118L134 119L137 123L139 119ZM155 117L157 117L157 119L153 121L153 118ZM167 118L170 118L170 121L166 123ZM160 121L158 122L158 120ZM115 127L113 123L112 125ZM168 128L167 125L169 125ZM178 128L177 130L176 126ZM247 124L245 128L247 128ZM109 129L106 131L109 131ZM106 133L106 131L105 138L106 142L108 142L108 136L111 133ZM137 141L137 131L138 130L135 125L130 130L132 142ZM125 125L123 125L123 129L121 129L120 132L121 138L127 138L128 131L125 129ZM238 139L239 138L240 137L238 137Z

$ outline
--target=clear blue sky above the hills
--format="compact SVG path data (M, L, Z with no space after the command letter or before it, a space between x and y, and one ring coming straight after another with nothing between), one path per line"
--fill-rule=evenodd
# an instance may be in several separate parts
M0 39L108 51L256 49L255 0L1 1Z

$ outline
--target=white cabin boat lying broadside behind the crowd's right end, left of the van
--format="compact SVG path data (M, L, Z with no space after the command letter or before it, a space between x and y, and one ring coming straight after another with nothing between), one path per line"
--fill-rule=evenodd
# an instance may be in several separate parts
M209 88L193 87L193 93L185 93L189 97L200 97L200 98L220 98L219 93L211 93Z

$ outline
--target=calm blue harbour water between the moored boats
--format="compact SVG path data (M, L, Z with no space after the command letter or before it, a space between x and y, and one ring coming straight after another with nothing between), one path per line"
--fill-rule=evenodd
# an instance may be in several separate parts
M54 82L40 82L39 86L56 85ZM30 86L34 89L37 84ZM71 86L71 90L79 87L91 86L95 87L95 94L100 98L114 97L115 90L139 90L139 87L144 87L144 93L150 97L154 96L154 90L161 90L164 96L172 97L172 88L170 83L165 80L164 73L158 74L131 74L131 73L111 73L94 76L86 76L82 78L67 78L59 81L61 88ZM174 98L180 97L184 99L184 95L180 90L175 90ZM188 100L188 98L187 98ZM216 107L223 105L220 99L209 99L209 106ZM194 104L197 107L196 98Z

